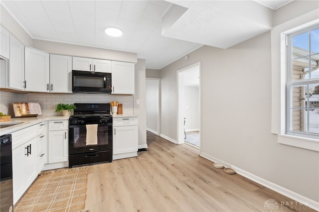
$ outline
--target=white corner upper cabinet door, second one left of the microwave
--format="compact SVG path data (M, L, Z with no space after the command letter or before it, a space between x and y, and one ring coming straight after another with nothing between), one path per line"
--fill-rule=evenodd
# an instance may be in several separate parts
M49 92L49 54L29 47L25 47L24 54L25 90Z

